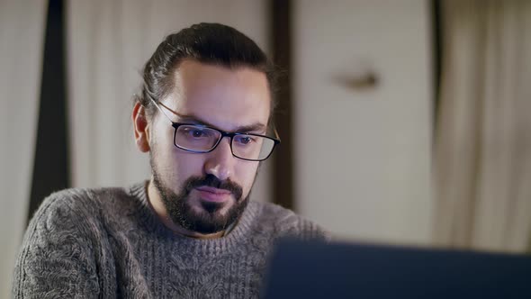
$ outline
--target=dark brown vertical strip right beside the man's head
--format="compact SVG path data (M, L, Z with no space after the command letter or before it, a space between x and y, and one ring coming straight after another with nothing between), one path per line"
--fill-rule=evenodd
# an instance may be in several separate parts
M284 71L279 80L275 122L282 140L274 156L274 202L295 209L293 193L292 117L292 10L289 0L271 2L271 41L273 60Z

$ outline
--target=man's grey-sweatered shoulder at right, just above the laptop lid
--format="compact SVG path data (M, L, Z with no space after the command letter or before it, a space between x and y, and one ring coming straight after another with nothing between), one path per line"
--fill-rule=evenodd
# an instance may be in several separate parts
M294 236L302 239L329 240L329 233L317 223L278 204L249 203L257 211L257 225L271 228L279 237Z

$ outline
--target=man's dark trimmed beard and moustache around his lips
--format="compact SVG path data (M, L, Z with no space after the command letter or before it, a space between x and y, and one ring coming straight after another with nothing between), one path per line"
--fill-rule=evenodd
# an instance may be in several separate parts
M179 192L175 193L165 185L152 156L149 162L153 174L153 183L157 188L169 218L187 231L195 231L202 234L225 231L231 224L238 221L247 207L250 192L249 195L242 198L242 187L230 180L221 181L213 175L189 177L184 181L183 186L180 186ZM235 203L226 213L220 213L220 210L227 203L200 200L201 211L194 210L190 204L190 193L199 186L228 190L234 196Z

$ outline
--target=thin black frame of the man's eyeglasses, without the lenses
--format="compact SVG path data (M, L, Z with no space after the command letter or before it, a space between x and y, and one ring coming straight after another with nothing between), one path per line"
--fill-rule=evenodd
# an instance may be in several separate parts
M174 127L175 131L174 131L174 146L175 148L177 149L183 149L183 150L186 150L188 152L193 152L193 153L196 153L196 154L205 154L205 153L209 153L211 151L213 151L214 149L216 149L218 147L218 145L220 145L221 143L221 140L225 137L229 137L229 146L230 146L230 153L232 154L233 157L235 158L238 158L238 159L242 159L242 160L246 160L246 161L252 161L252 162L261 162L261 161L265 161L266 159L268 159L269 157L271 157L271 155L273 154L273 151L275 150L275 147L280 144L280 137L278 136L278 132L276 131L276 129L274 129L275 131L275 136L276 138L273 138L273 137L270 137L270 136L266 136L266 135L260 135L260 134L255 134L255 133L243 133L243 132L229 132L229 131L221 131L219 129L216 129L216 128L212 128L210 126L207 126L207 125L202 125L202 124L197 124L197 123L186 123L186 122L174 122L172 121L172 119L164 112L164 110L162 110L162 108L160 107L160 105L154 100L152 99L151 97L149 97L149 100L155 104L155 106L157 107L158 111L160 111L161 113L164 114L164 116L166 116L166 119L172 123L172 127ZM164 106L166 109L170 110L169 108L166 107L166 105L162 104L162 106ZM170 110L171 111L171 110ZM173 113L175 113L174 111L172 111ZM182 126L182 125L192 125L192 126L197 126L197 127L202 127L202 128L207 128L207 129L211 129L211 130L214 130L214 131L218 131L220 132L220 138L216 141L216 143L211 147L211 149L209 150L194 150L194 149L184 149L183 147L180 147L177 145L177 142L175 140L176 138L176 135L177 135L177 128ZM273 140L275 143L273 144L273 148L271 148L271 151L269 152L269 154L267 155L266 158L264 159L245 159L245 158L241 158L241 157L238 157L236 154L234 154L234 150L232 149L232 140L234 140L234 136L238 136L238 135L250 135L250 136L257 136L257 137L262 137L262 138L266 138L266 139L269 139L269 140Z

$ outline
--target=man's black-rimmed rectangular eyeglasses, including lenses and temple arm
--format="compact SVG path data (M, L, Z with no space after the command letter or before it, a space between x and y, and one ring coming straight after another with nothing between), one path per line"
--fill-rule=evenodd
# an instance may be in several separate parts
M150 100L175 128L174 145L179 149L207 153L216 149L223 137L229 137L230 150L234 157L247 161L263 161L271 156L275 146L280 143L276 130L276 138L272 138L254 133L220 131L202 124L174 122L155 100ZM162 106L168 109L165 105Z

